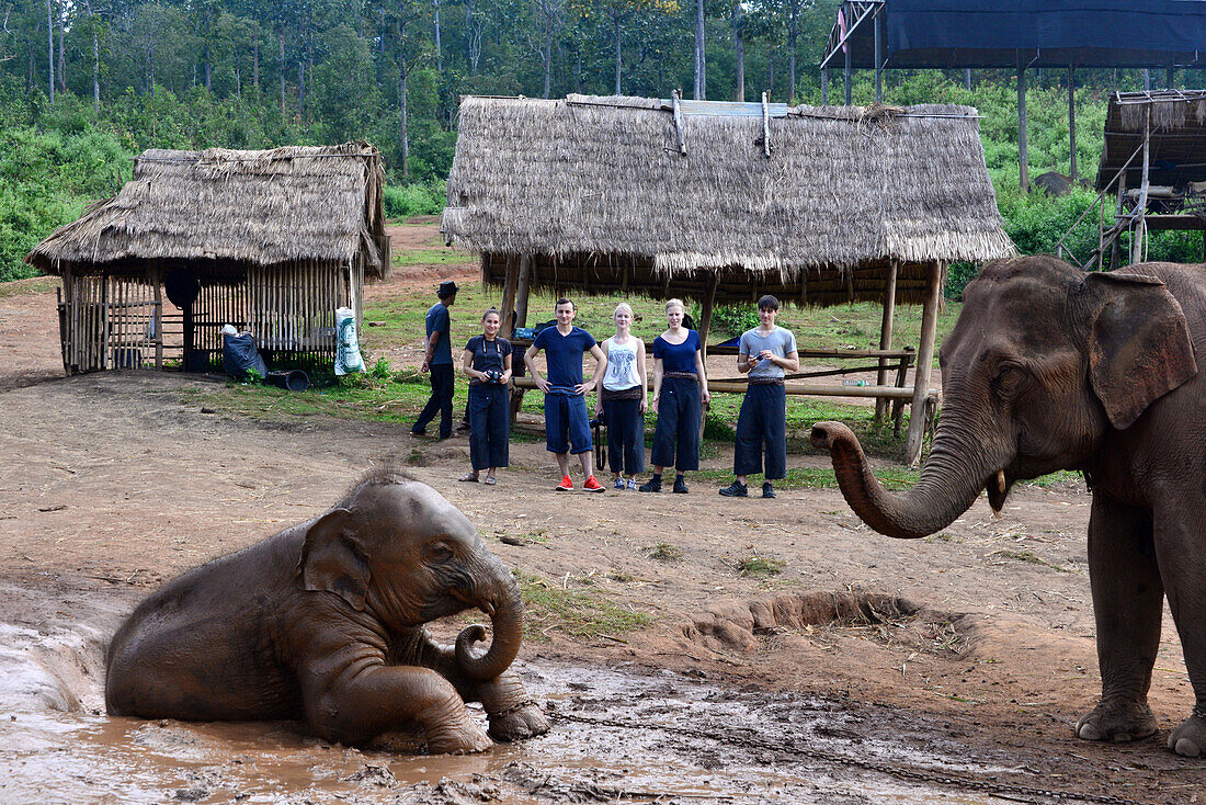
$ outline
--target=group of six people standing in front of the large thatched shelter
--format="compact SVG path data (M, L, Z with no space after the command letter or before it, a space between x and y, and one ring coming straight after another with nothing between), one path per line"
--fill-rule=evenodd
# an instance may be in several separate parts
M431 372L432 396L411 432L422 434L440 415L439 436L452 434L452 352L447 309L456 301L457 286L441 282L439 302L427 311L423 372ZM760 323L742 334L737 371L748 375L749 387L737 419L733 453L733 482L720 490L726 497L747 497L747 477L765 473L762 497L774 497L774 480L786 477L786 392L784 375L800 368L792 333L774 323L779 301L759 299ZM681 299L666 303L666 331L654 339L652 401L649 399L645 343L632 334L632 308L621 302L611 316L615 334L602 344L574 326L578 307L572 299L557 299L556 326L535 333L523 354L523 364L544 393L545 448L557 460L558 491L574 489L569 456L578 456L582 489L604 491L595 477L592 426L607 427L608 463L616 490L662 491L662 477L674 468L672 490L687 494L685 473L699 468L699 436L703 408L709 403L708 378L699 333L684 326L686 309ZM496 484L496 472L508 466L510 442L511 344L498 331L502 316L491 308L481 316L481 334L469 339L461 358L461 372L469 378L469 461L470 472L459 480ZM545 373L535 364L545 354ZM584 377L584 356L593 358L590 379ZM593 420L586 396L597 391ZM649 462L652 476L637 483L645 471L645 413L657 414L654 447ZM601 468L602 469L602 468ZM481 473L485 472L485 478Z

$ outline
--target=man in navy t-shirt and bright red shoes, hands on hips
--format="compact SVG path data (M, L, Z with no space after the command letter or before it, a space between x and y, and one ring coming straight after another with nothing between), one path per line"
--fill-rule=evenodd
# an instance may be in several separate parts
M602 492L603 485L595 479L595 444L591 441L590 415L586 413L586 395L607 371L607 356L589 332L574 327L578 307L573 302L557 299L554 313L557 326L545 327L537 333L532 346L523 354L523 363L532 373L537 387L544 392L545 449L557 456L557 466L561 468L557 491L574 488L574 482L569 479L569 454L574 453L582 462L582 474L586 477L582 489ZM548 378L535 368L535 356L540 350L545 354ZM586 352L595 357L595 374L590 383L582 383L582 355Z

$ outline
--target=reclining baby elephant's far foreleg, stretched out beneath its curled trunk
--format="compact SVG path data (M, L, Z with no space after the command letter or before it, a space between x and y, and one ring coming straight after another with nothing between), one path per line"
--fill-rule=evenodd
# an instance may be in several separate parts
M416 661L445 677L464 701L480 701L490 718L490 734L499 741L517 741L549 731L549 721L528 695L515 671L478 682L461 671L451 646L440 646L422 630L415 643Z

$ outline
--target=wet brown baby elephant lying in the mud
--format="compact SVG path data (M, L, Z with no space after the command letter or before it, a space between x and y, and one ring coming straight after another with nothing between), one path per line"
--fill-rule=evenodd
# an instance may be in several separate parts
M479 607L490 649L456 648L422 624ZM432 488L381 471L316 520L194 568L144 601L109 649L111 714L189 721L300 719L362 743L406 727L432 752L549 729L514 671L523 602L510 571Z

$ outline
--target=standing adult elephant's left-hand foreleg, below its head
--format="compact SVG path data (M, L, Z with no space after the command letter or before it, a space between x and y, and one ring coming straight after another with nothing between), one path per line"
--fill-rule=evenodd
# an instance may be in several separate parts
M1089 515L1089 581L1097 625L1101 702L1076 725L1087 741L1134 741L1155 731L1147 705L1160 647L1164 587L1152 519L1102 492Z

